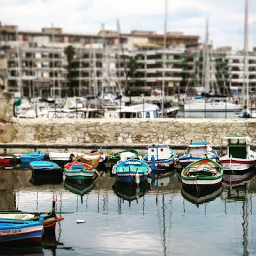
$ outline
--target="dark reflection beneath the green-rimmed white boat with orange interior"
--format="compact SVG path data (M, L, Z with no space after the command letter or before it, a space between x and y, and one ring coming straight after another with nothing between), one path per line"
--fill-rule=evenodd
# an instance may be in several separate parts
M200 188L182 184L181 194L186 200L199 206L200 204L205 204L215 200L221 195L222 190L223 186L221 183L211 186L202 186Z

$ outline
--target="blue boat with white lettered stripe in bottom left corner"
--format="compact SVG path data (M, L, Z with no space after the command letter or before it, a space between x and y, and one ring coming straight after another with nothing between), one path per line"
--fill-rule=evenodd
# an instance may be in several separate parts
M40 243L44 230L44 216L39 221L0 219L0 245Z

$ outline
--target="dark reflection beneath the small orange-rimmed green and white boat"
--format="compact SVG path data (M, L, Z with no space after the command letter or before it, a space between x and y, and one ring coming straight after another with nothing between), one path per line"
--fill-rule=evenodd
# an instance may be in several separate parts
M90 192L94 188L95 182L93 179L88 179L83 184L78 184L72 180L65 179L64 188L73 194L81 196L81 203L83 204L83 195Z

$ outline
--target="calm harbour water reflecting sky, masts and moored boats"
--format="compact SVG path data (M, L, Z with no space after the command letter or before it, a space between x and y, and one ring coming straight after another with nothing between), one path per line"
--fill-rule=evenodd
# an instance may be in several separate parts
M85 193L67 182L35 186L30 170L0 170L0 209L47 212L56 200L65 220L34 255L256 255L254 178L225 175L223 186L196 195L177 172L141 189L100 177Z

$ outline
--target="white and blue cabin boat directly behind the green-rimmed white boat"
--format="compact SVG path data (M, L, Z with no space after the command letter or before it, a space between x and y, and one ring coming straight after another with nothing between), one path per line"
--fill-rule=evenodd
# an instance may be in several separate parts
M191 145L188 145L188 154L180 156L178 161L181 167L186 167L188 164L194 163L199 159L202 159L205 154L209 159L217 159L218 153L207 145L205 141L192 142Z

